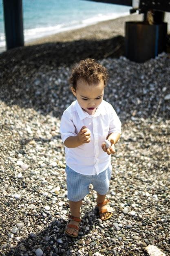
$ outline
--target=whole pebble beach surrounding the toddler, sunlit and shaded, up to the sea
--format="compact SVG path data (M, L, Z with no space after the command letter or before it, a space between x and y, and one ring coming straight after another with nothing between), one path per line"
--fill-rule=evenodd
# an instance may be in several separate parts
M0 54L0 255L148 256L148 245L170 254L170 54L145 63L124 57L124 22L141 19L101 22ZM64 234L69 204L59 129L75 100L71 66L87 57L109 71L104 99L122 135L111 158L113 216L99 219L91 185L79 236L71 238Z

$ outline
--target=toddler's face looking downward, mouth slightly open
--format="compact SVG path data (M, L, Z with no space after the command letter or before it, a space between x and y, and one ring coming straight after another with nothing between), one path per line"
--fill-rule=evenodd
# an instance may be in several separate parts
M71 90L79 106L89 115L94 115L104 96L104 81L101 79L97 85L88 85L85 80L79 79L76 91L73 87Z

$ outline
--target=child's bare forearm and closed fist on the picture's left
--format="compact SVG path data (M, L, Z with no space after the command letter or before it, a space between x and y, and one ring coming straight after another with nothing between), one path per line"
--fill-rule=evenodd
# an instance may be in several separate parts
M77 136L70 136L64 141L64 145L67 148L77 148L84 143L89 143L91 141L91 133L86 126L83 126Z

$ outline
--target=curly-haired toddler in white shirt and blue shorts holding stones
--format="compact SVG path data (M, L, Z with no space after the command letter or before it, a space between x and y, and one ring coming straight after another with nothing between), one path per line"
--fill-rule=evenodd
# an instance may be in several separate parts
M64 111L60 132L66 153L66 181L71 214L65 233L77 237L82 199L89 184L97 192L99 218L108 220L112 211L106 200L112 173L111 153L121 135L121 122L110 103L103 100L108 81L106 68L87 58L74 65L69 79L76 101ZM106 148L106 139L110 148Z

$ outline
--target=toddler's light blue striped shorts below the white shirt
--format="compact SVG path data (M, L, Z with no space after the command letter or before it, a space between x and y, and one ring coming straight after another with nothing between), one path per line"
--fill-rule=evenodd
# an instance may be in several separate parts
M68 200L77 202L82 200L89 193L89 185L100 195L108 193L109 183L112 175L112 166L99 173L99 175L84 175L73 171L66 166Z

